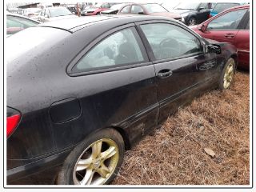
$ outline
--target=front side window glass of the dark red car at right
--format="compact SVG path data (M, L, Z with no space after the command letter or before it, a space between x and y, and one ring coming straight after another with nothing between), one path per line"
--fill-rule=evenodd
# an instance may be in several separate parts
M209 22L207 30L237 30L245 10L230 11Z

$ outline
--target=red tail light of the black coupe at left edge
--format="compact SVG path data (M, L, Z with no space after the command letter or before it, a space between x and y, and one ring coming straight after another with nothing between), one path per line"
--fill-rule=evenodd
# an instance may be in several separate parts
M21 119L21 114L18 110L14 110L13 108L7 107L7 121L6 121L6 136L10 137L10 134L14 132L16 127L18 126L18 122Z

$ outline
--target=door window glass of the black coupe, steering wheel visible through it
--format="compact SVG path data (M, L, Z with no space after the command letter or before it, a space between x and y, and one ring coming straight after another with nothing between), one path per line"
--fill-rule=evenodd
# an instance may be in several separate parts
M202 51L198 38L179 26L154 23L141 27L156 59L181 57Z

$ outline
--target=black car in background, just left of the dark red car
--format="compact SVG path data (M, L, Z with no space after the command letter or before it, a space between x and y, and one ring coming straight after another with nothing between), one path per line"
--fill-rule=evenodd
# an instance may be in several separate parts
M209 18L211 2L182 2L174 8L174 12L181 14L187 26L194 26Z

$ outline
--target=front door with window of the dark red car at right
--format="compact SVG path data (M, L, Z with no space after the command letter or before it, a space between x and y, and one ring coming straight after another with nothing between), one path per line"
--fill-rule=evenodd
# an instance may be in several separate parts
M218 42L230 42L234 44L236 35L241 26L241 21L246 14L246 9L230 10L216 18L206 22L204 38L214 39Z

